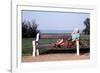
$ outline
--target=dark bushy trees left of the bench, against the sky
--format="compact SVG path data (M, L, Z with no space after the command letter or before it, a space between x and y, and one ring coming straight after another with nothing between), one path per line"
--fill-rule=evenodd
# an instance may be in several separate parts
M36 24L35 20L33 20L32 22L23 21L22 22L22 38L36 37L36 34L39 32L37 28L38 28L38 25Z

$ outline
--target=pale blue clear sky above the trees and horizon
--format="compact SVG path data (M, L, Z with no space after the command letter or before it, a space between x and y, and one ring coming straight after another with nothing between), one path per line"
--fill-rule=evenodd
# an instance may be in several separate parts
M38 29L43 30L73 30L85 28L84 20L90 18L89 13L75 13L75 12L47 12L47 11L21 11L21 20L32 21L35 20L38 24Z

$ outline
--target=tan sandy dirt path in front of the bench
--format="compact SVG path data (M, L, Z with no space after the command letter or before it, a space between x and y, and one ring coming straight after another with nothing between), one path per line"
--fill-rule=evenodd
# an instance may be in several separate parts
M43 54L39 56L22 56L22 62L43 62L43 61L65 61L65 60L86 60L90 59L89 53L77 56L76 53L57 53L57 54Z

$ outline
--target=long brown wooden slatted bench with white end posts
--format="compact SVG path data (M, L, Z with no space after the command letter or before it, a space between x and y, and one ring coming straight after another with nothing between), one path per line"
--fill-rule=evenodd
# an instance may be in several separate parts
M66 40L70 40L71 39L71 35L69 34L37 34L36 36L36 40L32 41L32 45L33 45L33 56L39 55L39 50L40 49L45 49L45 48L55 48L54 44L39 44L37 42L39 42L40 39L66 39ZM67 48L66 46L63 46L66 49L70 49ZM63 48L62 47L62 48ZM73 48L72 48L73 49ZM76 51L77 51L77 55L79 56L79 41L76 41Z

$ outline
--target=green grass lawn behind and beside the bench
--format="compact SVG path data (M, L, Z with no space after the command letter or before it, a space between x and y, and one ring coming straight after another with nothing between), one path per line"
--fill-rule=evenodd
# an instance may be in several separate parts
M46 33L46 34L54 34L54 33ZM70 33L67 33L67 34L70 34ZM34 40L34 39L35 38L23 38L22 39L22 55L32 54L32 40ZM56 40L57 39L41 39L40 43L48 44L48 43L53 43ZM81 34L80 40L83 43L88 43L88 45L90 44L90 36L89 35ZM40 52L43 52L45 50L46 49L41 49Z

